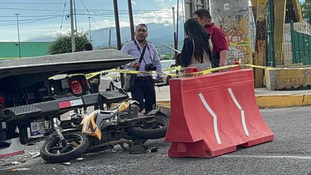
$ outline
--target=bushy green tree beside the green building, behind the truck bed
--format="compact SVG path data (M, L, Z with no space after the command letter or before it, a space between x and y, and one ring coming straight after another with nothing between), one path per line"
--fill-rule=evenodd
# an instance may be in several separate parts
M76 50L82 51L83 45L90 42L86 35L87 33L84 31L78 31L78 36L75 35ZM48 46L48 53L51 55L70 52L72 52L70 33L58 34L54 41Z

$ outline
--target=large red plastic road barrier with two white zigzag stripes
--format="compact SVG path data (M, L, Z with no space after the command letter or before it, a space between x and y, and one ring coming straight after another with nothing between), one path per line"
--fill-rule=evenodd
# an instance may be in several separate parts
M213 158L274 139L255 101L252 69L174 78L169 86L169 157Z

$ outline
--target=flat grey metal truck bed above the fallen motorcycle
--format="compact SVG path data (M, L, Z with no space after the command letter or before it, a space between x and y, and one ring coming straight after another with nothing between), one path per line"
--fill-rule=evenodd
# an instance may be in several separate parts
M0 61L0 81L5 77L27 74L51 77L66 73L90 73L113 69L135 59L119 50L104 49L4 60Z

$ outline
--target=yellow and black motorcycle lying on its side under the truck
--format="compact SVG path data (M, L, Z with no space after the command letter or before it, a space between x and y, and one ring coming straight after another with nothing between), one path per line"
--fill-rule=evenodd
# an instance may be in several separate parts
M113 149L116 144L127 143L133 147L135 143L144 148L142 144L146 140L165 137L168 111L138 113L138 102L123 102L109 111L96 110L87 116L72 114L73 119L65 123L68 128L65 130L57 125L54 118L55 137L43 144L40 155L50 163L62 163L85 152ZM77 121L81 122L77 124Z

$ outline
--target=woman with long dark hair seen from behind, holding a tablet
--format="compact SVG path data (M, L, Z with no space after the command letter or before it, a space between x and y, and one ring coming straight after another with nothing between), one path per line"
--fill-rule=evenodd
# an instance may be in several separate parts
M184 24L186 38L177 60L182 67L197 67L200 71L211 69L210 35L195 19Z

